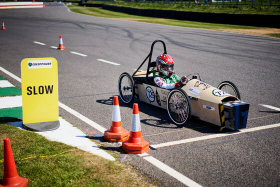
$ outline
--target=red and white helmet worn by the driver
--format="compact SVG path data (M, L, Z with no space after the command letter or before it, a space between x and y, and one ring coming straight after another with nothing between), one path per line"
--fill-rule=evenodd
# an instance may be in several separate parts
M165 76L171 76L174 72L174 60L168 54L161 54L156 57L156 68Z

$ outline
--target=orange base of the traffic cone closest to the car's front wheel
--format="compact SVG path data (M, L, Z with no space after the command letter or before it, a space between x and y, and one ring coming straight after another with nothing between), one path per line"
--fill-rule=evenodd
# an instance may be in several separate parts
M141 154L149 150L149 143L146 140L142 140L140 143L130 143L127 141L122 142L122 150L128 154Z

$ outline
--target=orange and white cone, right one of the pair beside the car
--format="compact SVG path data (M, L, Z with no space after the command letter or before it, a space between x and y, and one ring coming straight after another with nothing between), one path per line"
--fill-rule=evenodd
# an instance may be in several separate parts
M138 104L133 104L132 123L128 140L122 142L122 150L128 154L141 154L149 150L149 143L143 139Z

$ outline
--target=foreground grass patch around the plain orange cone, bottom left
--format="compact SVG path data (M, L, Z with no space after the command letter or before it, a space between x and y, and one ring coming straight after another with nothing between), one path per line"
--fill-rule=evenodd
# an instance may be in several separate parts
M96 155L82 155L88 152L49 141L37 133L9 124L0 124L0 178L3 176L2 139L5 137L10 139L17 173L29 180L28 186L152 185L147 182L148 178L140 176L138 171L126 163L109 161Z

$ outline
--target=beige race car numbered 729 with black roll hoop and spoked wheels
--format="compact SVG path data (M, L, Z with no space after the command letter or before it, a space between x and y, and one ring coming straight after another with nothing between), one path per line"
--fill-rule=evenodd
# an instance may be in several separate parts
M150 52L132 76L123 72L118 79L118 93L125 103L134 97L152 105L167 109L170 119L178 125L187 123L190 116L232 130L245 128L249 104L240 100L237 87L230 81L221 82L217 88L200 79L199 73L191 73L191 78L183 87L165 89L156 86L153 78L158 73L155 61L151 61L153 45L161 42L164 54L165 43L155 40ZM147 70L139 71L148 58Z

